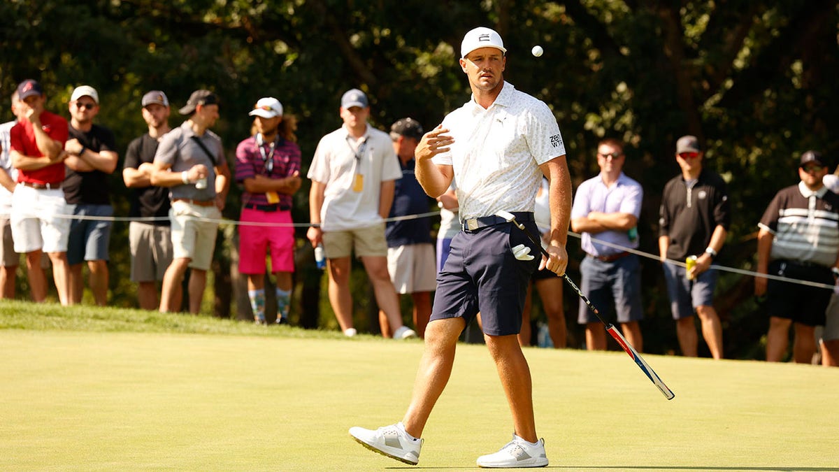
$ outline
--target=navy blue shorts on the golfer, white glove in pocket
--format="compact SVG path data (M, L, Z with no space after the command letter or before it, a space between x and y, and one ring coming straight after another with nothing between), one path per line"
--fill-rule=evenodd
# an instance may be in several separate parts
M539 234L536 223L523 223ZM517 260L511 248L525 244L533 260ZM530 276L539 268L539 248L512 223L461 231L451 239L437 291L431 321L462 317L466 326L481 312L483 332L490 336L518 334Z

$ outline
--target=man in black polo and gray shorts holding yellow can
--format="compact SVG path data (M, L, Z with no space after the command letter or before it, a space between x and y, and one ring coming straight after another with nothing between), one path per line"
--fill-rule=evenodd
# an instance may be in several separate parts
M717 270L708 268L726 240L728 191L721 176L703 168L705 153L696 137L682 136L676 141L675 157L681 174L667 182L661 197L659 255L676 320L676 337L682 355L696 357L696 309L711 356L722 359L722 324L712 305ZM690 272L672 262L684 262L693 255L696 266Z

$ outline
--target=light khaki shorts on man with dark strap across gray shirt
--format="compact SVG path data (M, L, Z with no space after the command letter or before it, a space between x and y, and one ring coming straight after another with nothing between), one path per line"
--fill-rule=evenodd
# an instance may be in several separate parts
M216 249L218 207L201 207L190 202L172 202L169 221L172 223L172 257L190 259L190 267L209 270ZM214 220L214 221L206 221Z

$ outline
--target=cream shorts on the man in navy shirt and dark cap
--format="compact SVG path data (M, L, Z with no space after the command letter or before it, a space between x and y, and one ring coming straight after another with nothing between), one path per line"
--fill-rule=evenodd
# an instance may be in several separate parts
M388 273L397 293L434 291L437 288L434 245L406 244L388 248Z

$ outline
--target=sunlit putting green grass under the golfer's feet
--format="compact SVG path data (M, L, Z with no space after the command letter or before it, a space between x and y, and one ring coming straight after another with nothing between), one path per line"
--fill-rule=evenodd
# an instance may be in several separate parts
M209 317L0 303L2 470L410 468L353 425L399 420L419 341ZM839 471L839 370L527 349L539 435L563 470ZM474 469L512 431L485 347L458 347L419 469Z

